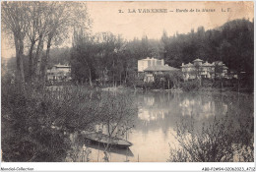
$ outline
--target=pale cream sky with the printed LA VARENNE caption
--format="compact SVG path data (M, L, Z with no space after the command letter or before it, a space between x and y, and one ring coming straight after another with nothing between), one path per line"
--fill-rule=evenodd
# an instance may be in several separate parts
M131 40L147 35L160 38L162 31L168 35L187 33L203 26L207 29L221 27L234 19L253 20L253 2L86 2L93 20L92 32L110 31ZM167 13L139 13L139 9L164 9ZM203 12L208 9L210 12ZM227 10L228 9L228 10ZM120 10L123 13L119 13ZM128 11L135 13L128 13ZM194 10L194 11L193 11ZM198 11L200 10L200 12ZM2 36L2 57L15 55L14 47L8 45L8 37ZM70 46L66 43L66 46Z

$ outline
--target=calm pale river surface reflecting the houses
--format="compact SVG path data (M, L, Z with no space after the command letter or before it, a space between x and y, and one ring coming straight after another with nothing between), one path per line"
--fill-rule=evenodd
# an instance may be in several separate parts
M169 157L169 146L177 144L173 135L182 118L193 117L199 123L207 123L224 116L227 111L233 118L237 114L253 113L253 94L147 92L133 96L137 100L138 115L134 120L135 128L124 137L133 145L129 149L112 150L109 154L112 162L165 162ZM90 149L90 161L103 161L103 147Z

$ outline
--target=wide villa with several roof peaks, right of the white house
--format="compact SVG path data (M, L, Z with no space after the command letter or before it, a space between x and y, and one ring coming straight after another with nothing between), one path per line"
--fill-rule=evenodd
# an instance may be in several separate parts
M221 61L213 63L208 63L206 61L205 63L203 63L203 60L196 59L193 61L193 64L182 63L182 66L180 67L185 81L193 80L196 78L227 78L228 68Z

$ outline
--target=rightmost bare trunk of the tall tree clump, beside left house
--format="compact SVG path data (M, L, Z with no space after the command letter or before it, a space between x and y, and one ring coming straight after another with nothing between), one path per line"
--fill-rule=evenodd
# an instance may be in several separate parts
M46 49L46 56L42 57L42 62L41 62L41 82L44 86L45 84L45 77L46 77L46 72L47 72L47 66L48 66L48 60L50 56L50 46L51 46L51 40L52 40L52 35L48 35L48 41L47 41L47 49Z

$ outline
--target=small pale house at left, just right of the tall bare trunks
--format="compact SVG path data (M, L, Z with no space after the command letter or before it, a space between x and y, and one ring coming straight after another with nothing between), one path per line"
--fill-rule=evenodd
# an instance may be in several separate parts
M47 69L47 81L53 82L68 82L71 80L71 66L54 65Z

